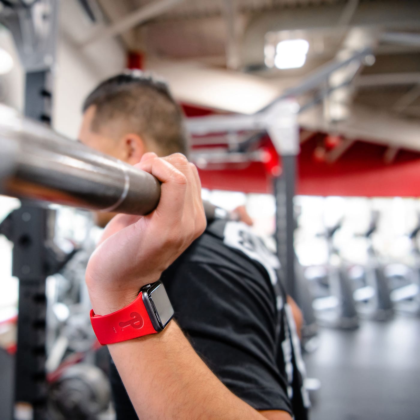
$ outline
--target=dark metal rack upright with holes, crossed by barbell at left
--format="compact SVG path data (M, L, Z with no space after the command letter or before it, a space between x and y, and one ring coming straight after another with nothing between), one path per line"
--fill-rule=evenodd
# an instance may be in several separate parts
M49 69L26 73L25 115L51 123ZM45 285L55 210L22 202L13 215L13 276L19 278L15 401L29 402L33 419L47 417ZM20 219L20 220L19 220Z

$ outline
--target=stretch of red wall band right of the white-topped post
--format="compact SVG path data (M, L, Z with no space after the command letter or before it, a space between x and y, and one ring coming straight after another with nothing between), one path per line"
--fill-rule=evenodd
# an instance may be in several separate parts
M420 154L400 150L391 164L386 147L363 141L335 163L314 159L317 139L302 144L298 158L299 194L366 197L420 196Z

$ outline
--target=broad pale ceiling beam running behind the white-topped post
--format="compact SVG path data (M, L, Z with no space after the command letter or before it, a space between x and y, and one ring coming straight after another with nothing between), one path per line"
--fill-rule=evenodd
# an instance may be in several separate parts
M208 108L252 114L271 103L283 90L280 86L273 89L269 81L256 76L197 63L148 60L147 64L149 70L167 79L178 100ZM350 140L362 139L420 151L420 123L373 108L352 105L349 118L333 125L324 120L322 107L313 107L298 118L299 125L306 131L335 132Z

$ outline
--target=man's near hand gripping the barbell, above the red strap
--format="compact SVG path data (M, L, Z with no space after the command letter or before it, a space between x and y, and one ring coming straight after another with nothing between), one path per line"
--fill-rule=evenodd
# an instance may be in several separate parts
M120 214L105 228L86 270L97 315L132 302L205 230L197 168L184 155L146 153L135 166L161 181L160 201L147 216Z

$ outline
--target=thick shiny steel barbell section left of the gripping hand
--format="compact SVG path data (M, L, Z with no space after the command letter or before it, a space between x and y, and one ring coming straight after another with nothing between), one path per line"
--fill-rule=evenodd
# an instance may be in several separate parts
M0 105L0 194L145 215L159 202L160 183Z

